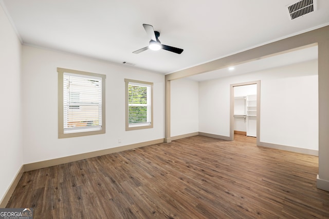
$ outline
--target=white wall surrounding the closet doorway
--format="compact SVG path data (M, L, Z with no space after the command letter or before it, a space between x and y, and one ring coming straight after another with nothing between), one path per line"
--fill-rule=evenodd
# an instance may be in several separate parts
M199 83L199 131L229 136L230 84L261 80L260 141L318 150L317 60Z

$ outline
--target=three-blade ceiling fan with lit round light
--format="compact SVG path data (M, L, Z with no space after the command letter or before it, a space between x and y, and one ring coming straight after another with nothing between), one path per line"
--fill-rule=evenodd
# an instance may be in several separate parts
M161 44L161 42L159 41L160 33L158 31L154 31L152 25L143 24L143 27L144 27L145 31L147 32L147 34L149 35L149 37L151 38L151 41L149 43L149 46L141 48L139 50L136 50L133 53L137 54L137 53L140 53L140 52L145 51L147 49L151 49L151 50L164 49L164 50L167 50L167 51L170 51L170 52L175 52L175 53L178 53L178 54L182 53L183 49L179 49L179 48L176 48L176 47Z

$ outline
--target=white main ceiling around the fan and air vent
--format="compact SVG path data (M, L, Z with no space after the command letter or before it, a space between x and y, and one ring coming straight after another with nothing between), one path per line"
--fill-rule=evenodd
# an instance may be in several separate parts
M329 25L328 0L317 0L315 12L291 21L287 6L296 2L0 0L25 45L128 62L162 74ZM161 43L184 52L133 54L150 40L142 24L153 25Z

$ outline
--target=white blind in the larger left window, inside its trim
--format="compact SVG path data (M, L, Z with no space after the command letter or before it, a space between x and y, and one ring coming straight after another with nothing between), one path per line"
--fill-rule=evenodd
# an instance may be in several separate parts
M102 128L102 78L63 74L64 133Z

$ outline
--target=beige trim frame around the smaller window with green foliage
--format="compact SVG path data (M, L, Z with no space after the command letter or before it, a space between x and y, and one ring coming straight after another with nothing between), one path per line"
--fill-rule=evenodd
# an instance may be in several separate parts
M153 128L153 83L143 82L133 79L124 79L125 82L125 130L138 130L138 129L150 129ZM149 85L151 86L151 123L139 123L136 125L129 125L129 83Z

